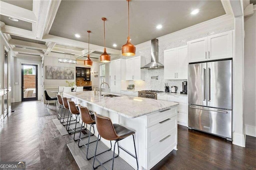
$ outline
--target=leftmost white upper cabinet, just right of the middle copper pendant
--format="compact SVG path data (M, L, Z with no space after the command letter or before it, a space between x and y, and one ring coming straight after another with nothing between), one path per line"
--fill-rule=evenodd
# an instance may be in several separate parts
M116 59L110 63L111 80L125 80L126 77L126 62L125 59Z

